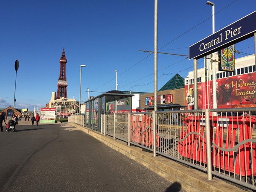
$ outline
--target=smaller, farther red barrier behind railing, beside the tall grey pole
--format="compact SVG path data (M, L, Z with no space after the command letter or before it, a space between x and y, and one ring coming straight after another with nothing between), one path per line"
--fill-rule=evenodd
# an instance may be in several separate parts
M153 145L153 118L147 115L131 115L130 126L131 142L145 145L147 147ZM158 147L158 134L156 135L156 140L156 146Z

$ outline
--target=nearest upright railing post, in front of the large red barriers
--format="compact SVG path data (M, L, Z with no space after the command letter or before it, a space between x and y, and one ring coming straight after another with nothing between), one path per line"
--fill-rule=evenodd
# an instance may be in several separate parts
M205 109L205 126L206 126L206 154L207 154L207 175L208 180L212 180L212 153L210 140L210 119L209 109Z

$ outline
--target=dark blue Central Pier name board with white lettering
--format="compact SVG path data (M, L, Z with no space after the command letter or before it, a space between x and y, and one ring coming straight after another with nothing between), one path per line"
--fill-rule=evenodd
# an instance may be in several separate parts
M189 47L189 59L201 58L246 38L250 38L256 32L255 22L256 11L193 44Z

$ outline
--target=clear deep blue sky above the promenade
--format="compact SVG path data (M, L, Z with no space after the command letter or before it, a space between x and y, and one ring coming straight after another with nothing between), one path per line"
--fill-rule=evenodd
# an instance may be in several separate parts
M215 31L255 11L256 0L212 0ZM159 52L188 55L189 46L212 33L212 7L206 0L158 0ZM62 49L67 57L67 96L81 101L116 88L153 92L154 0L2 0L0 5L0 108L44 107L57 92ZM255 24L255 21L252 21ZM254 54L254 40L235 45ZM188 58L158 54L158 90L176 73L192 70ZM204 66L198 60L198 68Z

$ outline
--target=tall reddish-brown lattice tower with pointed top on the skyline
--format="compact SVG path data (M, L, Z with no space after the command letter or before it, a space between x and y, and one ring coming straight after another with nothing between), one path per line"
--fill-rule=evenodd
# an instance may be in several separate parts
M67 63L67 58L63 48L62 55L60 58L61 68L60 68L60 76L57 83L58 90L57 90L56 99L60 99L61 97L67 98L66 63Z

